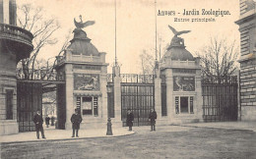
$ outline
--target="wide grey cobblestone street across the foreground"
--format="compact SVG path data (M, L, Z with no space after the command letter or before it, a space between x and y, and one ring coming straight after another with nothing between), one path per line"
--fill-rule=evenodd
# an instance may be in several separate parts
M207 128L135 127L135 134L2 143L1 158L256 158L256 133Z

